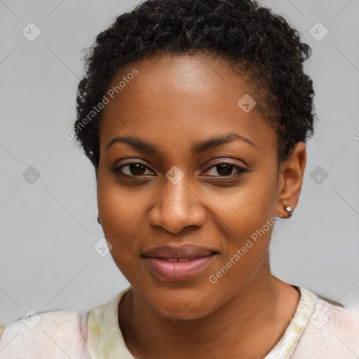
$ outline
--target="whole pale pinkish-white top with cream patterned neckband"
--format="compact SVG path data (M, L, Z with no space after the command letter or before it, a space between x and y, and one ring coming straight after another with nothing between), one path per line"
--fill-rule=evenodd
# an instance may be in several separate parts
M264 359L359 358L358 314L297 288L297 311ZM118 305L128 290L88 312L48 311L0 325L0 359L135 358L118 325Z

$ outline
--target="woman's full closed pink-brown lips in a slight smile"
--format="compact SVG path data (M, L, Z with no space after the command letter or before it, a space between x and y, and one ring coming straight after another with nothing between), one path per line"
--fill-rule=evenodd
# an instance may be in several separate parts
M142 257L152 273L164 280L193 278L207 267L218 254L195 245L163 246L144 252Z

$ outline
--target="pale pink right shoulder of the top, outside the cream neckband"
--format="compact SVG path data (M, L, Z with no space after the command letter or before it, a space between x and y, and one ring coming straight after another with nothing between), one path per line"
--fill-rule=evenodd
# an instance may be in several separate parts
M317 296L292 359L358 358L358 355L359 313Z

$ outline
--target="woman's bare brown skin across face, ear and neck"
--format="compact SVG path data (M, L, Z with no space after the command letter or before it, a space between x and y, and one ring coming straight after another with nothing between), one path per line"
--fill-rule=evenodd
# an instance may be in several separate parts
M128 66L114 84L133 68L139 74L104 109L97 172L104 235L132 285L118 310L126 346L139 359L263 358L299 302L299 292L271 274L273 226L217 283L209 277L276 212L287 217L285 206L297 206L306 146L299 142L278 169L274 130L256 107L248 114L238 107L243 95L255 94L224 62L166 55ZM247 137L256 147L234 140L191 153L192 144L226 133ZM160 153L123 143L106 149L114 137L126 135L156 144ZM132 178L111 172L137 160L147 166L142 172L122 168ZM250 172L220 172L216 165L223 160ZM172 166L184 173L178 184L165 177ZM182 281L158 278L141 257L150 248L180 244L218 255Z

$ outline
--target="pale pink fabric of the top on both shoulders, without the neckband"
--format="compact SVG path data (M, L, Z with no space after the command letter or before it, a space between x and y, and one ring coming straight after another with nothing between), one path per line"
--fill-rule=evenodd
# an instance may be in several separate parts
M87 311L39 313L41 321L30 329L15 320L0 336L0 359L90 358L87 347ZM316 297L291 359L359 358L359 314ZM116 359L129 359L116 355Z

